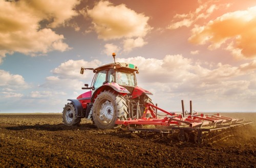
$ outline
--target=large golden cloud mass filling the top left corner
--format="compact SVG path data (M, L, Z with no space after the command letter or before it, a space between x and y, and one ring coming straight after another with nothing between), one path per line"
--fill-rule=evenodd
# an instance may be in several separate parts
M73 8L77 4L77 0L0 1L0 57L13 52L34 56L71 49L52 28L76 16Z

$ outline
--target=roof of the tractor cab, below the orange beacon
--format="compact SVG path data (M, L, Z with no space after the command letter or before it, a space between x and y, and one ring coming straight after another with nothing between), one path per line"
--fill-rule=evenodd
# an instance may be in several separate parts
M135 66L134 64L127 64L127 63L105 64L105 65L95 68L94 70L101 71L101 70L108 69L108 68L114 68L114 66L116 66L116 69L124 68L124 69L130 70L130 71L138 71L139 70L139 68L137 66Z

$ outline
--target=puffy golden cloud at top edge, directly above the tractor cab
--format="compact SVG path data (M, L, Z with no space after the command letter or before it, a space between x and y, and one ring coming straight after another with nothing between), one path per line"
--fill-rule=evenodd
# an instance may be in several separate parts
M92 18L98 38L103 40L144 37L152 29L147 24L149 17L124 4L114 6L108 1L100 1L87 13Z

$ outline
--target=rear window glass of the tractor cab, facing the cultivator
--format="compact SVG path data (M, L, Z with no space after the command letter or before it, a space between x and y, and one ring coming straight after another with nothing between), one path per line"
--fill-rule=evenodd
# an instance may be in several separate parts
M134 72L116 71L116 82L122 86L135 87L135 74Z

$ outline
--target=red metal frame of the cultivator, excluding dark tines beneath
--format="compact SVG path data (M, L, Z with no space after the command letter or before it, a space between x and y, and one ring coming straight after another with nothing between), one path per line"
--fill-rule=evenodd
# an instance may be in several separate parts
M247 125L252 122L244 122L244 119L233 119L221 116L220 114L204 115L194 113L192 114L190 101L190 113L184 112L184 105L182 100L182 115L177 113L169 113L168 111L159 108L153 104L147 103L143 115L140 119L117 120L115 124L125 125L130 131L155 131L161 133L170 133L173 130L180 130L181 140L184 140L184 131L197 131L198 143L202 143L202 133L210 132L220 129L227 129L230 127ZM157 118L157 110L166 114L164 118ZM146 118L146 114L151 114L151 118ZM132 127L132 126L136 127ZM138 128L137 126L141 126ZM143 128L143 125L155 125L156 128ZM182 139L183 138L183 139Z

